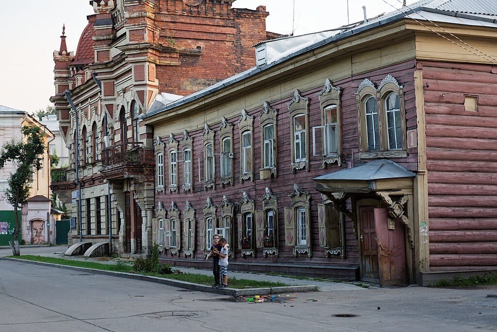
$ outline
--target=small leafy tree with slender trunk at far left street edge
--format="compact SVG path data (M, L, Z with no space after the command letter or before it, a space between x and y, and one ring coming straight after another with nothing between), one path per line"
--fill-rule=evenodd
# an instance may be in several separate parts
M15 168L15 172L8 178L8 188L5 190L7 202L14 207L15 228L12 232L13 241L9 241L14 256L20 255L18 235L21 227L17 209L22 207L29 196L33 168L36 171L41 169L45 150L44 134L40 127L24 126L21 132L24 139L12 139L3 144L0 151L0 168L7 161L11 161Z

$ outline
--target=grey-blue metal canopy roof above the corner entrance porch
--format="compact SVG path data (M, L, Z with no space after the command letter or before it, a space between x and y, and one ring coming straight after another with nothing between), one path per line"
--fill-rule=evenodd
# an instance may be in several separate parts
M394 163L380 159L360 166L343 169L313 178L314 181L371 181L381 179L414 178L416 174Z

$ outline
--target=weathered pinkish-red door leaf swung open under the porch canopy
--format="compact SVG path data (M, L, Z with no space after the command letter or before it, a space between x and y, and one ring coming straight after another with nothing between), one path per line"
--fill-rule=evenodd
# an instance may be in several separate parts
M394 229L388 229L386 209L374 209L374 220L378 238L380 284L405 285L407 274L404 225L396 220Z

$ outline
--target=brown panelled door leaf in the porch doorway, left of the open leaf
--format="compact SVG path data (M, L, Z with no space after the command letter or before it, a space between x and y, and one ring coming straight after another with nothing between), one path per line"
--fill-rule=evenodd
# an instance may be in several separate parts
M361 280L379 282L374 210L375 207L359 208Z

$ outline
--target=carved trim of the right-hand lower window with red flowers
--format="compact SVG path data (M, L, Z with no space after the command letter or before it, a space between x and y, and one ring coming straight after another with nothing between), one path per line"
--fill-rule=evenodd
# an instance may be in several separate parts
M262 229L260 225L255 225L257 232L257 247L262 247L262 255L267 257L267 255L278 256L278 198L271 193L269 188L265 188L264 195L262 195ZM266 245L264 238L269 234L267 231L267 213L268 211L273 212L273 232L272 232L272 243L273 245ZM259 232L262 234L259 235Z

